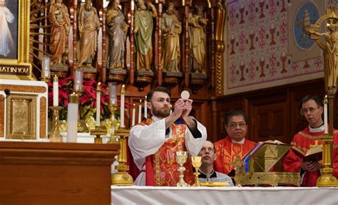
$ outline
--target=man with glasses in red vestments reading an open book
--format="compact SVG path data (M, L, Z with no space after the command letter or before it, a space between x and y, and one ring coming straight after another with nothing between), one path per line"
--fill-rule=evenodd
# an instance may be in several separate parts
M317 95L307 95L299 102L300 113L304 115L309 123L301 132L298 132L291 142L297 148L306 152L313 144L314 140L319 140L320 135L324 135L324 123L322 120L322 100ZM334 130L334 150L333 150L333 169L334 176L338 177L338 157L337 144L338 132ZM322 144L322 142L318 142ZM301 186L316 186L317 178L320 176L319 169L322 168L322 160L317 162L303 161L298 157L292 149L288 152L284 161L284 169L286 172L299 172L301 174Z

